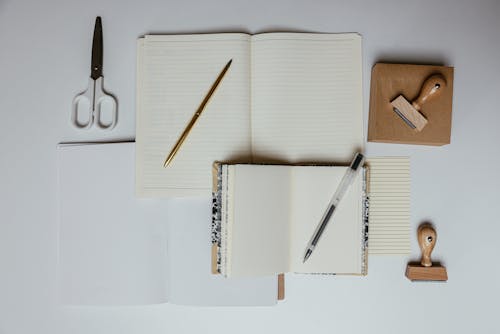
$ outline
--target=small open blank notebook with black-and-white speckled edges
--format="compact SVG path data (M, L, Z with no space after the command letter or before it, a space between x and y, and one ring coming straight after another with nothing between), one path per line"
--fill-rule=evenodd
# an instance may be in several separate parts
M212 270L227 277L366 274L365 169L303 263L309 239L348 167L215 164L214 168L212 242L218 248L218 261Z

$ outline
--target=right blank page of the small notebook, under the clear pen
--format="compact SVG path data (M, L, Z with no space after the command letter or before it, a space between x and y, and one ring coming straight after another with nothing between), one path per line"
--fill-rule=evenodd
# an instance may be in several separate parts
M363 266L363 178L359 173L340 201L313 254L304 253L348 167L292 168L290 270L361 274Z

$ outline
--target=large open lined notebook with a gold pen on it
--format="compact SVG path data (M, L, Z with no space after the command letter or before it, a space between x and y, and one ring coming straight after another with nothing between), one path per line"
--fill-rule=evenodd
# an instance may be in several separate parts
M214 161L348 163L363 147L358 34L145 36L137 48L136 190L210 196ZM172 163L163 162L232 65Z

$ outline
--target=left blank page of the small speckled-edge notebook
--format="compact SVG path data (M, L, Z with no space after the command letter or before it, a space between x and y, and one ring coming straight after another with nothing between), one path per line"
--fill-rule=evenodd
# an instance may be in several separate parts
M234 165L228 276L249 277L287 271L290 168Z

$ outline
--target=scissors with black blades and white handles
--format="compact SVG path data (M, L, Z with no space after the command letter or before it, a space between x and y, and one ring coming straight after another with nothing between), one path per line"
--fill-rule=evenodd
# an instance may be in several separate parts
M71 122L79 129L89 129L93 124L103 130L111 130L118 120L116 99L106 93L102 87L102 24L101 17L95 19L94 40L92 42L92 64L90 68L89 86L86 91L73 100ZM111 122L103 122L102 105L111 109ZM86 106L88 105L88 108ZM108 108L105 108L108 109ZM78 116L88 115L86 121Z

